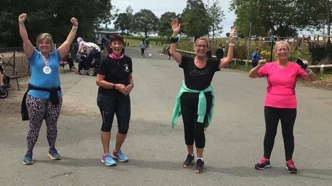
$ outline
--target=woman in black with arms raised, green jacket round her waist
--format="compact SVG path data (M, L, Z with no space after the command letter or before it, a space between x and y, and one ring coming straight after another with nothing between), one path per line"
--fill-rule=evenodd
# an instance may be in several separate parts
M237 34L233 28L229 38L227 57L220 60L206 59L209 48L208 39L198 38L194 44L196 56L185 57L179 54L176 49L180 25L177 19L172 21L173 35L171 38L170 54L174 60L183 68L184 83L182 84L177 102L173 111L172 126L176 118L182 114L184 124L184 139L187 145L188 155L182 166L188 168L194 161L194 142L197 152L196 173L204 172L203 149L205 146L204 127L206 128L212 117L214 93L211 87L212 77L220 68L227 65L233 59L234 40ZM200 96L201 95L201 96ZM202 97L206 98L206 101ZM200 98L199 98L200 97ZM199 101L200 100L200 101ZM206 104L201 104L205 102ZM204 107L205 106L205 107ZM203 113L203 114L202 114Z

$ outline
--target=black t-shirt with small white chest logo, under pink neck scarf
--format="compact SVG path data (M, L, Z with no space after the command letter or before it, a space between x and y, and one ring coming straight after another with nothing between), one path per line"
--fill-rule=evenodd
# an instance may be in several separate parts
M129 74L133 72L132 61L128 56L124 56L120 60L114 60L109 56L105 56L100 64L98 74L105 75L104 80L106 82L114 84L123 84L125 86L129 85ZM123 93L116 89L105 89L99 87L99 94L112 95L112 96L125 96Z

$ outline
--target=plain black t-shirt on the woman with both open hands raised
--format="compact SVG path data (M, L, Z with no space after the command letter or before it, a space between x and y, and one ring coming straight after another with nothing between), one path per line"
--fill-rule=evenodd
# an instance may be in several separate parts
M205 67L198 68L194 63L194 58L182 56L181 65L184 72L184 83L189 89L204 90L211 85L212 77L219 71L219 60L209 59Z

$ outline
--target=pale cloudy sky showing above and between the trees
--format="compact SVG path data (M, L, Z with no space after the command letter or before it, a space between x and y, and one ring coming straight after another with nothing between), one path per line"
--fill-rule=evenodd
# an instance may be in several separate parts
M207 4L208 0L203 0L204 4ZM158 18L165 12L182 13L186 6L186 0L112 0L111 3L117 9L119 13L126 12L126 8L130 5L133 9L133 14L139 12L140 9L151 10ZM220 0L219 5L225 14L225 19L222 22L224 27L224 33L229 32L230 27L233 25L235 15L229 11L230 0ZM211 1L210 1L211 4Z

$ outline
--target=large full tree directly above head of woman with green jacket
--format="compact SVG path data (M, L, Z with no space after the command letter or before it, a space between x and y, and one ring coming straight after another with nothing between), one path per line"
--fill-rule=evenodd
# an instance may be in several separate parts
M195 40L209 33L211 21L202 0L187 0L186 8L181 14L182 32Z

